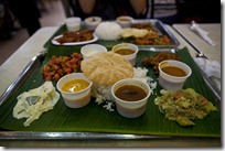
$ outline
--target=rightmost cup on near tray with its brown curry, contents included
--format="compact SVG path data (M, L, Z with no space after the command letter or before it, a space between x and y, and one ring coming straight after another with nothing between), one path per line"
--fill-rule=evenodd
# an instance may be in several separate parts
M192 69L184 63L174 60L162 61L159 66L159 85L164 89L182 89Z

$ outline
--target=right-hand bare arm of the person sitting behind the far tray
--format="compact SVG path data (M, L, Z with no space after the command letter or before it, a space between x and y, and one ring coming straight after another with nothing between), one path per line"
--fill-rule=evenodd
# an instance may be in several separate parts
M141 14L148 7L147 0L130 0L130 4L132 6L137 14Z

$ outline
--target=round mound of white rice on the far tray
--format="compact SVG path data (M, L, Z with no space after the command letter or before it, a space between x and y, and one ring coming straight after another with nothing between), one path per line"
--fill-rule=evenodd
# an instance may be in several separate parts
M95 29L95 34L99 40L115 41L121 37L121 26L116 22L101 22Z

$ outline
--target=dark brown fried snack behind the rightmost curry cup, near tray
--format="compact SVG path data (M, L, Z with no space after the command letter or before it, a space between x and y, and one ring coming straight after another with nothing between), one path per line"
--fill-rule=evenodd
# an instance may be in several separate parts
M165 60L176 60L180 61L178 54L169 53L169 52L159 52L156 56L149 56L141 61L143 66L153 66L153 71L156 74L159 74L158 65L160 62Z

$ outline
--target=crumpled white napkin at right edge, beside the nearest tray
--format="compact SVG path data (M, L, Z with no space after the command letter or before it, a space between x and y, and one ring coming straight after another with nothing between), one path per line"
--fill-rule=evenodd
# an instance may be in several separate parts
M203 57L195 57L194 61L221 90L221 64L217 61L210 61Z

